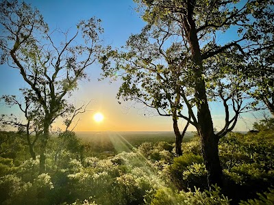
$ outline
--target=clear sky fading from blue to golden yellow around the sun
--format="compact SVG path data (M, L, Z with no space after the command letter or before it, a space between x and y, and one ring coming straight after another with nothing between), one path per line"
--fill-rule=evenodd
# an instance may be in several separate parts
M75 27L79 20L96 16L102 20L104 29L103 40L105 44L119 48L125 44L132 33L139 33L145 23L140 15L135 12L136 5L132 0L27 0L32 6L38 8L50 29L63 30ZM101 78L101 66L90 66L87 70L90 81L81 81L76 92L69 98L71 102L79 106L90 101L88 110L79 115L80 118L75 131L173 131L172 119L147 113L145 107L134 102L122 102L116 100L121 81L110 82L110 79L98 81ZM25 87L25 83L18 70L0 65L0 96L3 94L18 95L18 88ZM224 122L223 107L219 103L211 103L212 119L217 130L221 129ZM8 109L0 104L0 113L14 112L23 117L15 108ZM95 122L93 115L100 112L104 119ZM247 131L252 128L253 115L242 115L235 130ZM179 122L183 129L185 122ZM62 128L60 120L55 126ZM194 127L188 131L195 131Z

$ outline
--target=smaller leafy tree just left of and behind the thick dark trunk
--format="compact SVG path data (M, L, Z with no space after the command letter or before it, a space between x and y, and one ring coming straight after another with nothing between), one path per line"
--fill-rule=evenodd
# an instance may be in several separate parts
M182 78L184 73L177 66L183 62L179 62L179 58L175 60L182 46L173 44L169 49L163 49L166 40L173 35L172 32L163 33L156 28L153 31L150 29L145 27L139 35L132 35L127 41L126 52L110 51L103 57L104 76L117 77L119 70L125 71L125 74L122 74L123 85L117 98L136 100L155 109L158 115L173 118L175 150L177 156L181 156L181 144L186 129L190 123L195 124L191 121L190 115L182 114L184 99L181 93L189 92L186 81ZM116 62L115 68L108 62L111 58ZM161 59L166 65L158 62ZM188 101L191 101L191 97ZM179 118L186 120L182 133L179 131Z

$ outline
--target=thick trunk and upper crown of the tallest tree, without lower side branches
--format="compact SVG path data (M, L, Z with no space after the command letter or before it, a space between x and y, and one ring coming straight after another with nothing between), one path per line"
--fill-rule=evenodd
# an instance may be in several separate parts
M182 31L192 61L193 88L197 106L197 131L201 136L203 159L208 170L208 184L222 184L222 169L219 161L219 136L214 133L212 116L208 107L208 91L203 75L205 62L227 51L243 57L269 49L273 43L264 41L269 35L265 30L258 36L260 27L267 28L271 22L272 1L146 1L137 0L143 9L143 19L149 24L157 25L161 20L175 22ZM266 18L262 17L266 16ZM268 19L267 19L268 18ZM266 21L267 19L268 21ZM225 44L216 42L216 33L221 35L228 29L236 29L238 35L227 40Z

